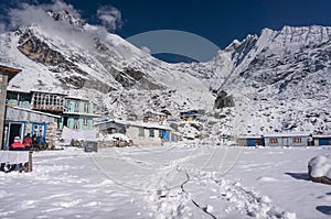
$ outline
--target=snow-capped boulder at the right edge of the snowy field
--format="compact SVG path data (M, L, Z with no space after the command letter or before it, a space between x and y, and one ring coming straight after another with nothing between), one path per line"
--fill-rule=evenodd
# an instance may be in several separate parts
M331 185L331 155L319 155L308 163L308 174L311 180Z

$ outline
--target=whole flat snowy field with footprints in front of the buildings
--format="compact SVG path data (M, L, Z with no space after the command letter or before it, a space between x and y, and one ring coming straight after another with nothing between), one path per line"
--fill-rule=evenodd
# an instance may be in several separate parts
M0 218L330 218L330 185L307 175L327 154L202 142L35 152L32 173L0 173Z

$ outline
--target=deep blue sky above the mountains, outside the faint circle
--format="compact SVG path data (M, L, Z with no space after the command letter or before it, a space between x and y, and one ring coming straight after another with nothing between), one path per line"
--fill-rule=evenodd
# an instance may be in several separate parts
M120 21L113 23L115 26L108 30L124 39L153 30L179 30L205 37L221 48L233 40L245 39L247 34L259 34L264 28L279 30L284 25L312 24L331 26L330 0L62 1L72 4L83 19L94 24L102 23L98 10L116 9ZM0 0L2 22L8 8L15 7L18 2L22 1ZM52 0L25 2L42 4L52 3Z

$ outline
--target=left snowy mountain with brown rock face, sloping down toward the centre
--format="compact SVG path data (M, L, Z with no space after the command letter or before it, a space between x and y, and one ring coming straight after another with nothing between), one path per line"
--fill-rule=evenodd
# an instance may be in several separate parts
M67 12L50 15L52 29L32 24L0 36L0 62L23 69L10 87L79 94L117 117L212 109L214 97L199 78Z

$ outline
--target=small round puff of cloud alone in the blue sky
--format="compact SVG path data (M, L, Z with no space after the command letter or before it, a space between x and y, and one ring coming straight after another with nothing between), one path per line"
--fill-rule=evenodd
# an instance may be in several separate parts
M103 6L97 10L97 17L108 31L115 31L122 25L121 12L111 6Z

